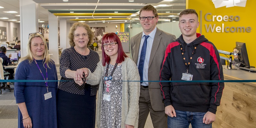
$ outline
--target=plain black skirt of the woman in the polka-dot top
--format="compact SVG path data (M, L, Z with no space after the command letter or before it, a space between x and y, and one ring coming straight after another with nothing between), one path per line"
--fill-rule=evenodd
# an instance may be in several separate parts
M58 128L95 128L96 95L90 94L91 87L85 90L84 95L58 90Z

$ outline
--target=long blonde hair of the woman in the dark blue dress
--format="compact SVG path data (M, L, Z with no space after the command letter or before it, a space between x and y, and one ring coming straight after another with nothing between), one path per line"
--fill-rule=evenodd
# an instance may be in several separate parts
M51 58L49 56L48 47L47 47L47 44L46 44L46 41L45 41L43 35L38 34L38 33L35 33L29 37L28 46L27 46L27 54L28 55L26 57L20 58L19 64L20 64L20 62L22 62L24 60L28 60L29 64L31 64L33 62L34 57L33 57L32 51L31 51L31 40L34 37L40 37L43 40L43 42L44 42L44 59L45 59L44 64L46 63L47 67L50 68L49 63L54 64L54 62L51 60Z

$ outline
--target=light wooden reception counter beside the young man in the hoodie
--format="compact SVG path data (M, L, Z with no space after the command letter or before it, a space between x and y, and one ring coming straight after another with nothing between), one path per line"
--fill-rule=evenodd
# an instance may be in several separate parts
M256 80L256 72L226 70L224 80ZM213 128L256 128L256 83L225 83Z

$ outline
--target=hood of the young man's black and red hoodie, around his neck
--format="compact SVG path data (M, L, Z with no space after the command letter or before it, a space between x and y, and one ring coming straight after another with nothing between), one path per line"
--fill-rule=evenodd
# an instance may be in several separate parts
M197 44L201 44L205 41L208 41L208 39L206 39L204 37L204 35L201 35L200 33L196 33L196 39L194 41L192 41L191 43L189 43L187 46L191 47L191 45L197 45ZM187 43L184 41L182 34L180 35L179 38L176 39L177 42L179 42L182 46L186 45Z

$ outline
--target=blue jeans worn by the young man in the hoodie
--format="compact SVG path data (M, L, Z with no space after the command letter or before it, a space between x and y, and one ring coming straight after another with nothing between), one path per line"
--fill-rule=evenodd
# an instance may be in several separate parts
M204 114L206 112L190 112L175 110L176 117L167 118L168 128L188 128L191 123L192 128L212 128L212 123L209 125L203 124Z

